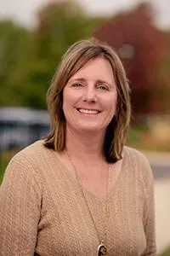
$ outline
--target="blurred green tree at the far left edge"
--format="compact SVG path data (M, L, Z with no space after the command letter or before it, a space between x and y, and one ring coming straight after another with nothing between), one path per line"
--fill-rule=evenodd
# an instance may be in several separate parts
M10 20L0 22L0 106L20 105L23 62L31 51L31 33Z

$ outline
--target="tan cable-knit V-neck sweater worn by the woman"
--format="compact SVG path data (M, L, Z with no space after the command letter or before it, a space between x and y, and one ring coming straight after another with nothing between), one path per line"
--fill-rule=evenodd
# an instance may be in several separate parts
M95 256L99 241L77 179L42 143L8 164L0 188L0 255ZM105 200L85 195L102 235ZM124 148L109 209L108 255L156 255L152 173L133 148Z

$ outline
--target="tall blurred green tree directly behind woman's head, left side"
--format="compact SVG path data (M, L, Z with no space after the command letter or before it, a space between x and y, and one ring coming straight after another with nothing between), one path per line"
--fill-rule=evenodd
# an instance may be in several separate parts
M83 10L71 1L48 3L37 13L38 25L35 30L38 65L32 71L31 87L41 88L45 98L48 85L65 50L77 40L89 38L100 19L89 19ZM39 84L39 85L38 85ZM35 106L43 108L43 104Z

